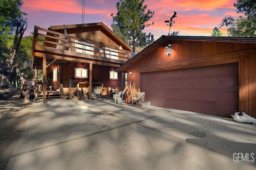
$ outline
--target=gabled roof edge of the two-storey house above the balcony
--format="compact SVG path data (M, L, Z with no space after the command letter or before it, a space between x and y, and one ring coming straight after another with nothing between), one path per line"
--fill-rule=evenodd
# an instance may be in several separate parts
M55 26L50 26L48 27L49 30L56 31L56 30L63 30L64 28L66 29L72 29L72 28L84 28L84 27L100 27L109 35L118 41L123 49L126 49L128 51L132 51L132 48L128 46L122 39L120 39L113 31L111 31L104 23L102 22L97 22L97 23L84 23L84 24L72 24L72 25L55 25ZM63 32L63 31L61 31Z

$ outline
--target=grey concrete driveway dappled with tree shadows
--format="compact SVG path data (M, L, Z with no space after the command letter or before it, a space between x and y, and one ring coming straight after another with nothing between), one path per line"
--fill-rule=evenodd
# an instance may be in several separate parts
M41 104L26 108L8 170L256 169L254 124L109 101Z

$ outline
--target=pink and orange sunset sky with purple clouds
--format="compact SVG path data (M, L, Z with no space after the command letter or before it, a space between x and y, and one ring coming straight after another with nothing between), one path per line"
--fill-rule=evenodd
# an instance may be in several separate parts
M84 23L102 22L111 30L111 13L116 16L116 3L120 0L85 0ZM31 35L34 25L48 29L53 25L82 23L83 0L23 0L22 11L27 14L28 27L24 36ZM146 11L154 11L150 25L143 32L152 33L154 39L168 35L169 25L164 20L177 12L172 31L179 35L210 36L225 16L239 16L233 4L236 0L145 0ZM225 33L225 30L222 30Z

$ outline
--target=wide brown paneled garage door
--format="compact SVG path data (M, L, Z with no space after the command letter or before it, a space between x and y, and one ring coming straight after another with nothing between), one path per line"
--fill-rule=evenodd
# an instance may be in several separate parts
M230 117L238 111L238 63L141 73L152 106Z

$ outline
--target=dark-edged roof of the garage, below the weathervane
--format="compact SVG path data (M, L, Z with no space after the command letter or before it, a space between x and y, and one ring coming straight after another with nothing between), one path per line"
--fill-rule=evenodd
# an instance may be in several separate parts
M154 41L148 47L143 49L140 53L132 57L129 61L122 64L117 72L124 72L130 64L134 64L136 61L156 49L157 47L162 46L167 41L170 40L184 40L184 41L212 41L212 42L232 42L232 43L256 43L256 37L205 37L205 36L167 36L162 35L159 39Z

